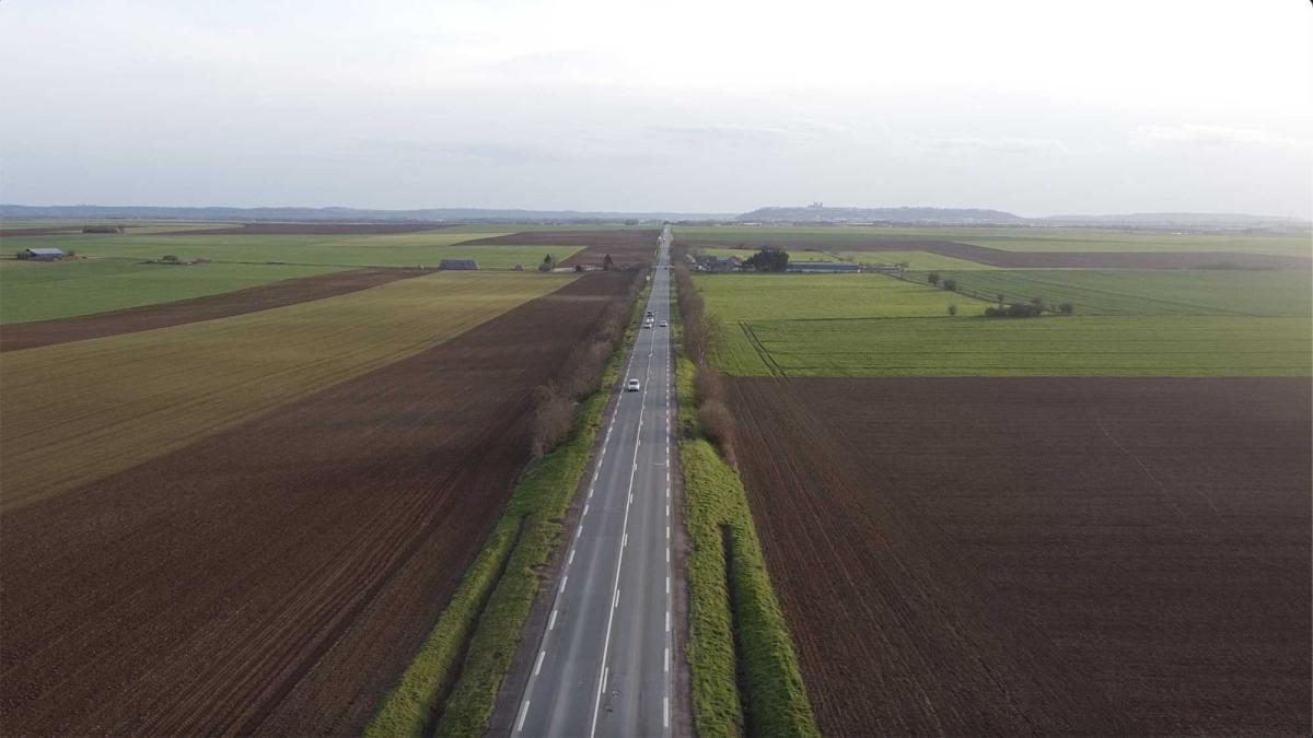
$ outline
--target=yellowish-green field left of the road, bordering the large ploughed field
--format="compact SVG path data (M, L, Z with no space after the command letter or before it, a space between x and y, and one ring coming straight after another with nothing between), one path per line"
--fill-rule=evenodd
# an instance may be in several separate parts
M223 320L0 353L0 510L432 348L562 284L436 274Z

